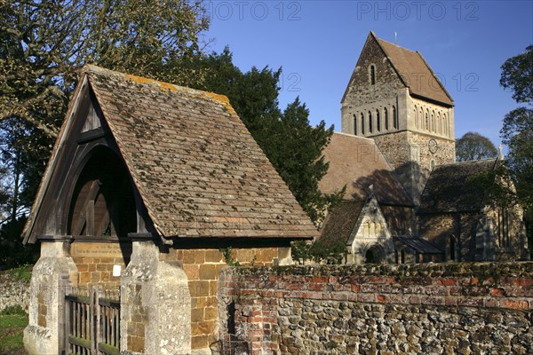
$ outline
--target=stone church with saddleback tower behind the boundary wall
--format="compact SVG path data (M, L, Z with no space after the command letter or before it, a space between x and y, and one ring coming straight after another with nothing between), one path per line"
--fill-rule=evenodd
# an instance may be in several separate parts
M418 51L370 32L323 154L323 193L346 186L321 228L347 264L529 259L519 206L490 202L475 177L503 159L455 162L454 102Z

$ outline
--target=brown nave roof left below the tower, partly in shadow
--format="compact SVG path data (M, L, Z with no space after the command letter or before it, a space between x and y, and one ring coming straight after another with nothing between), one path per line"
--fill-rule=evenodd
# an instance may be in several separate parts
M325 161L330 162L330 169L319 183L322 193L334 193L346 185L346 200L364 201L370 185L374 185L379 203L412 206L409 195L373 139L335 132L323 154Z

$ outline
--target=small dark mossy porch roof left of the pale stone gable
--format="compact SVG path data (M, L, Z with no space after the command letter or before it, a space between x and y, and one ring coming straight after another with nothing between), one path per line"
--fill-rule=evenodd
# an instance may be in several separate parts
M342 201L328 213L322 225L320 241L327 247L346 244L361 214L365 201Z

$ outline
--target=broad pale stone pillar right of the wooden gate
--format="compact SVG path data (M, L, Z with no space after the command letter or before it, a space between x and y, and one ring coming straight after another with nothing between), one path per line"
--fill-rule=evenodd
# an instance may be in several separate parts
M153 241L134 241L121 279L121 353L190 354L191 297L177 262Z

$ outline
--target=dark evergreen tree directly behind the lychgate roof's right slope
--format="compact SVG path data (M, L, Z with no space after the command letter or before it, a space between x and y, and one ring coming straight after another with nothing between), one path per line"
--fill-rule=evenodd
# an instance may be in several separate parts
M328 207L342 193L325 195L318 182L328 170L322 149L330 141L333 126L325 122L312 126L309 110L296 98L282 112L278 86L282 69L252 67L243 73L235 67L228 48L200 61L206 79L197 88L227 95L253 138L281 175L296 200L320 224Z

